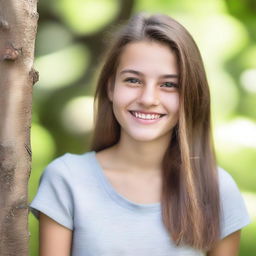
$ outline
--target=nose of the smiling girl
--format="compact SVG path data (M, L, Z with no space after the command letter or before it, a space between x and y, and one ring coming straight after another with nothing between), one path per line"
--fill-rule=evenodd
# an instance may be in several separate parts
M147 84L141 89L138 103L144 106L156 106L159 104L158 92L154 84Z

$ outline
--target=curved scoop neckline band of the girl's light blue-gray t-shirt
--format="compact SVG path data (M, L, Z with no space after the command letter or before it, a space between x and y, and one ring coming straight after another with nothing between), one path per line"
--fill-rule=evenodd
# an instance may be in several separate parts
M151 204L139 204L132 202L123 195L119 194L116 189L112 186L108 178L106 177L103 168L96 157L96 152L91 151L91 161L93 162L96 170L96 174L100 179L101 184L103 185L105 191L116 203L122 207L128 208L137 212L158 212L161 210L160 202L151 203Z

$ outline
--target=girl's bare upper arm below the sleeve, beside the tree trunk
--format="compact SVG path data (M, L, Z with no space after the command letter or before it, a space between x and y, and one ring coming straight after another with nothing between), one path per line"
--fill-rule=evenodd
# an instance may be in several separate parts
M58 224L47 215L39 218L39 255L70 256L72 230Z

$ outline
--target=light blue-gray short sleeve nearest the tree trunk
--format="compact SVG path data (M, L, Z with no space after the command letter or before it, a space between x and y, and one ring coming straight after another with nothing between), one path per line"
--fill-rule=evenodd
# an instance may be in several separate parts
M70 173L61 158L63 156L55 159L44 169L37 194L30 204L30 211L37 219L39 212L42 212L59 224L73 230Z

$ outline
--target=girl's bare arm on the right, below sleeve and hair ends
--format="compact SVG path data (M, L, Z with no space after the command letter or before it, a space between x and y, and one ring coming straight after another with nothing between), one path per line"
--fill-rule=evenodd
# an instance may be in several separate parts
M207 256L237 256L239 255L241 230L238 230L216 243Z

